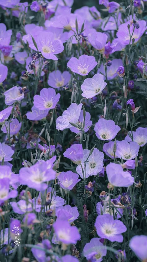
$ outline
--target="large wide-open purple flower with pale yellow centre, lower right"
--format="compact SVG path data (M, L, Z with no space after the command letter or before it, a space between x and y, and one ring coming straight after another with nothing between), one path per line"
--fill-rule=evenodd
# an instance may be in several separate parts
M111 242L122 242L123 236L121 234L127 231L127 227L120 220L114 220L109 214L98 216L95 227L98 236Z

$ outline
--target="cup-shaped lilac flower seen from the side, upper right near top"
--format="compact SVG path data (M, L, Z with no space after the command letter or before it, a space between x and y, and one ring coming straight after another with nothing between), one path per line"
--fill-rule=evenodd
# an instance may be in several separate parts
M105 44L107 42L108 35L105 33L95 32L93 34L88 35L88 40L90 44L100 53L104 53Z

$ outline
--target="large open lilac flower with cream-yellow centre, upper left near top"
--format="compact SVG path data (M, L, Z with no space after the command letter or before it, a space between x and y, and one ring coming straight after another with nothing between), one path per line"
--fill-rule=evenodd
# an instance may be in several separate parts
M55 54L60 54L64 50L61 40L55 40L55 36L51 32L39 34L36 38L36 44L42 56L47 59L58 60ZM36 47L33 49L36 50Z

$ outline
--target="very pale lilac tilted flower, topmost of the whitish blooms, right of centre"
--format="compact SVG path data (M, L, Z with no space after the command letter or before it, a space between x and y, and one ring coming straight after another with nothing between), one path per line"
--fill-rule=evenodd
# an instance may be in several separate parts
M104 76L101 74L95 74L92 78L87 78L82 83L82 96L92 98L93 96L100 94L106 85L107 83L104 82Z

